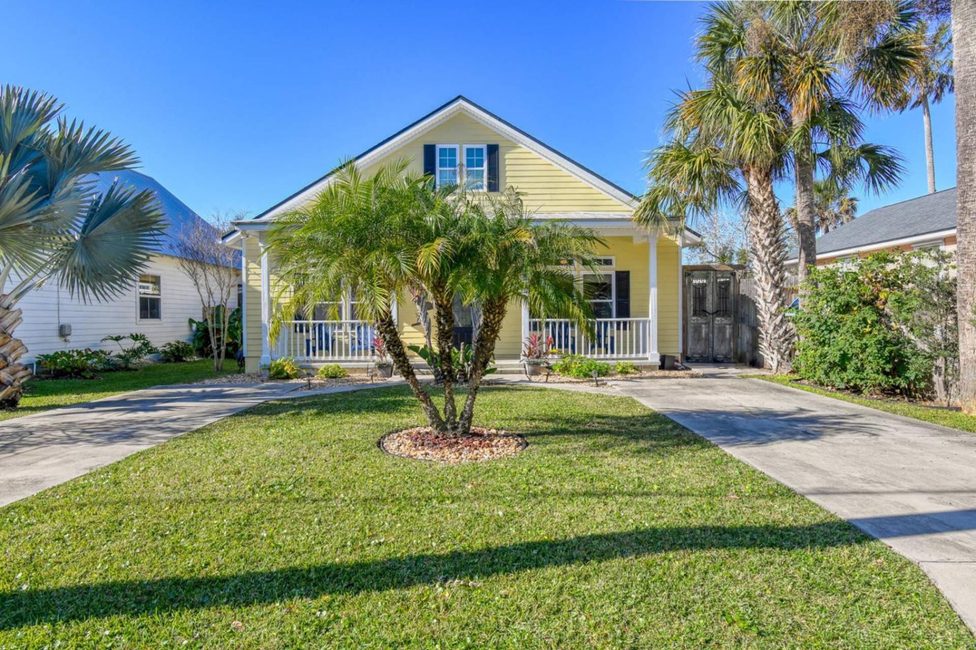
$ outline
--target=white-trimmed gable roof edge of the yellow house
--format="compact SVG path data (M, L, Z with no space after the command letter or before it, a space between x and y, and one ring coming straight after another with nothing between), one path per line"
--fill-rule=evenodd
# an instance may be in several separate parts
M518 127L512 125L506 120L503 120L499 116L479 106L463 95L456 96L450 101L441 104L437 108L434 108L424 117L407 125L400 131L390 135L377 144L374 144L369 149L366 149L358 156L352 158L352 160L358 165L365 167L374 160L385 156L393 149L398 148L400 145L405 144L414 137L426 133L437 124L454 117L454 115L458 114L459 112L465 113L474 120L481 122L489 129L505 135L513 142L522 145L538 156L548 160L550 163L554 164L563 171L569 172L581 180L588 182L596 189L600 190L610 198L616 199L625 206L633 205L639 201L636 196L628 192L620 185L604 178L596 172L593 172L589 168L584 167L569 156L556 151L542 140L534 137L533 135L525 133ZM335 173L337 169L333 169L324 176L313 180L298 192L295 192L274 206L264 210L264 212L254 217L254 220L270 219L288 210L298 208L299 205L321 192L328 184L329 177Z

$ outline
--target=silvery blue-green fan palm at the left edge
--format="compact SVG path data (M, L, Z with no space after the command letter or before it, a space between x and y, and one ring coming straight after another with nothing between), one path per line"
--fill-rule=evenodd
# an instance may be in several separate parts
M164 219L155 196L113 183L96 197L90 175L136 165L128 145L61 117L58 99L0 90L0 407L13 407L30 370L15 329L17 304L47 282L102 300L133 287Z

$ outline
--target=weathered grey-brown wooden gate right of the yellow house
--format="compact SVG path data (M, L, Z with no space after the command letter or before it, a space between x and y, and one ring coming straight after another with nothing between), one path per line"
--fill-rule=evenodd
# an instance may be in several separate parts
M736 361L737 280L729 267L684 267L685 360Z

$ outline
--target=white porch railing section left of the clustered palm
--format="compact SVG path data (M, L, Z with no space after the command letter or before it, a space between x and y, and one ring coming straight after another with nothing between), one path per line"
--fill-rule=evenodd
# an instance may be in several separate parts
M366 321L286 321L273 345L273 356L300 362L375 361L375 333Z

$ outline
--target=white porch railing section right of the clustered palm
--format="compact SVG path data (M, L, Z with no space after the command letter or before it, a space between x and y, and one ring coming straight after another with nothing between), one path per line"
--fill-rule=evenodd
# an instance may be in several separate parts
M595 319L584 329L568 319L529 319L525 336L538 333L552 337L560 355L592 359L649 359L650 319Z

